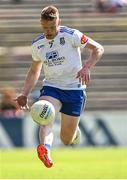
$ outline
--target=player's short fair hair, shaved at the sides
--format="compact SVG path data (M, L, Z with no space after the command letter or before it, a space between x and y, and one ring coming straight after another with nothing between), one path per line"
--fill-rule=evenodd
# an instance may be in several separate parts
M41 11L41 20L54 20L59 18L59 11L55 6L47 6Z

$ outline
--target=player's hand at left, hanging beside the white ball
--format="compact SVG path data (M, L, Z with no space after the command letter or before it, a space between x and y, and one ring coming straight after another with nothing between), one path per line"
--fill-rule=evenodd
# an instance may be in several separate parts
M28 103L27 96L24 96L23 94L21 94L17 98L15 98L15 101L17 101L17 104L18 104L20 109L23 109L23 110L29 109L29 106L27 104Z

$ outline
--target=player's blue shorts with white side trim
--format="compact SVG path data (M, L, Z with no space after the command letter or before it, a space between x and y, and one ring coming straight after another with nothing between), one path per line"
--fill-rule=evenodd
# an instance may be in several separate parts
M60 112L80 116L85 107L86 92L84 90L62 90L51 86L43 86L40 90L41 96L51 96L62 103Z

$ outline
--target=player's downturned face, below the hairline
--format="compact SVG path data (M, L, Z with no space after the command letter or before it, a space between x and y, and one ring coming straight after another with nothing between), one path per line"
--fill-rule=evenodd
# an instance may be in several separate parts
M54 19L52 21L41 20L42 30L47 39L54 39L59 31L60 20Z

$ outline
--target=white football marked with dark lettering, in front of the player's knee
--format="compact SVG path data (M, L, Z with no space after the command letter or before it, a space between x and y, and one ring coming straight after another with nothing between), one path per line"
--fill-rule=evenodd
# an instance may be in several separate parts
M31 106L33 120L39 125L47 125L55 119L54 106L46 100L39 100Z

